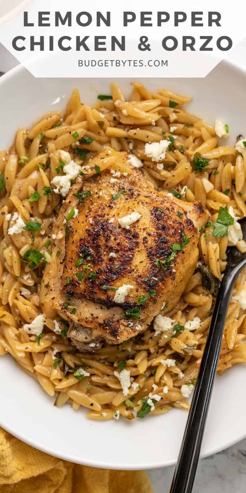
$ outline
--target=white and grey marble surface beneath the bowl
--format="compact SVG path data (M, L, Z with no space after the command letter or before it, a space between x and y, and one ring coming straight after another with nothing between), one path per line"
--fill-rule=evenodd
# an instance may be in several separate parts
M246 69L246 38L227 57ZM17 61L0 45L0 72L10 70ZM219 417L218 417L219 419ZM174 467L148 471L154 493L169 493ZM199 461L194 493L246 492L246 439Z

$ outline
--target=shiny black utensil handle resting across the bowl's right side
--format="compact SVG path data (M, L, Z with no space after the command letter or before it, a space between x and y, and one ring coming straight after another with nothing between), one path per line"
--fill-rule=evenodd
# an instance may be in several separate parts
M190 493L192 491L230 296L236 278L244 267L245 260L237 266L233 273L225 273L218 290L170 493Z

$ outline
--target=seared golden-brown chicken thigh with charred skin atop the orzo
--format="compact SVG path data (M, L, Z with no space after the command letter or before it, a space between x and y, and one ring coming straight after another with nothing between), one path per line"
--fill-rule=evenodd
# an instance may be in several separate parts
M90 351L138 334L177 304L206 213L154 190L124 152L107 147L85 168L60 210L40 295L44 313L68 320L72 344Z

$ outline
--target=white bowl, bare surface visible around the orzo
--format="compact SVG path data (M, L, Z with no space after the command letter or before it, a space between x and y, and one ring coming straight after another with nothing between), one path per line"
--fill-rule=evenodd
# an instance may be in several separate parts
M123 93L129 79L119 79ZM205 79L151 79L147 87L170 88L192 96L187 110L210 123L221 118L230 128L230 141L246 136L246 73L222 62ZM35 79L22 67L0 79L2 128L0 148L7 148L18 127L30 126L52 109L62 109L71 89L78 87L84 102L109 93L108 79ZM54 456L110 469L147 469L176 462L187 414L174 409L167 415L131 422L96 422L83 411L53 406L38 383L9 356L0 357L0 425L21 440ZM214 454L246 436L246 366L230 369L215 381L202 456Z

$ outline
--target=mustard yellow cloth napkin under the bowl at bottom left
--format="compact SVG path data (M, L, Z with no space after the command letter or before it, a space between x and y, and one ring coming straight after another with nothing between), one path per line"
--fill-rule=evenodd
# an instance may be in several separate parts
M61 460L0 428L0 493L153 493L145 471L112 471Z

